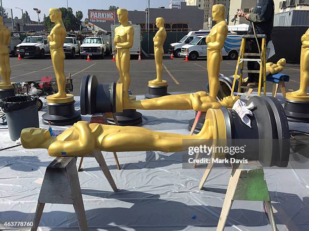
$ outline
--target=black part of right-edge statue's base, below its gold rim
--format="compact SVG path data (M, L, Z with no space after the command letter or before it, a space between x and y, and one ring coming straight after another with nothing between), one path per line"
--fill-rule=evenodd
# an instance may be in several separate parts
M284 110L288 121L309 123L309 101L301 102L285 99Z

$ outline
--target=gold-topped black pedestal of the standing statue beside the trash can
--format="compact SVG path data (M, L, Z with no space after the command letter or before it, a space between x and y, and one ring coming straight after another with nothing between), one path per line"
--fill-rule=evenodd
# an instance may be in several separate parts
M54 98L53 95L47 96L48 112L42 115L43 123L58 126L71 125L81 120L80 111L75 111L74 96L67 94L66 98Z

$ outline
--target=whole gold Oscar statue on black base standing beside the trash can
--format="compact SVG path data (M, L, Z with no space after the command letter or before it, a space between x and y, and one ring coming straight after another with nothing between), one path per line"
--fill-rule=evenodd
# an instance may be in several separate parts
M47 96L48 112L43 114L43 123L50 121L54 125L69 125L81 119L80 112L74 109L74 96L66 94L66 76L64 72L65 53L63 44L66 39L66 28L62 22L61 11L57 8L49 10L50 21L55 23L47 39L50 46L50 56L58 84L58 93Z

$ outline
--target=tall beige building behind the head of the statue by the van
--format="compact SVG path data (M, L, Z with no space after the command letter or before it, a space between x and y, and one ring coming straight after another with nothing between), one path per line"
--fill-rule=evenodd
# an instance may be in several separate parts
M187 6L197 6L198 9L204 10L204 26L203 29L209 29L212 17L213 4L222 4L226 8L225 18L230 11L230 1L233 0L186 0Z

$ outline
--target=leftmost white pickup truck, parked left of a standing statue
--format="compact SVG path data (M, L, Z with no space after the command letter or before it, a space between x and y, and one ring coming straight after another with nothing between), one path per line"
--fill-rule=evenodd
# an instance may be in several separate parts
M49 44L46 36L27 36L23 42L17 45L17 53L24 56L37 56L44 58L49 53Z

